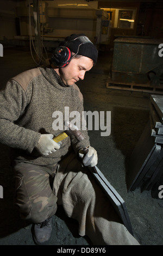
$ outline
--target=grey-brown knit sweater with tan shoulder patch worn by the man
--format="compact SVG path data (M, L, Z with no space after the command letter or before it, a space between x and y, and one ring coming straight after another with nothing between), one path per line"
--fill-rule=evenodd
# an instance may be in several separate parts
M62 132L53 129L52 115L54 111L61 111L64 117L65 106L70 112L82 114L83 96L76 84L65 86L52 68L31 69L8 81L0 93L0 142L14 148L15 162L40 166L55 164L72 150L72 146L77 152L90 145L87 131L82 131L82 142L73 136L67 137L61 148L48 156L36 152L41 134L57 136Z

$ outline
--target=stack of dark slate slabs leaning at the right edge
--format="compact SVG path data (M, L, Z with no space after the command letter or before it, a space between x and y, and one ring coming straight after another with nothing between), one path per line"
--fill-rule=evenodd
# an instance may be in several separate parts
M150 96L149 121L131 154L127 174L128 191L151 190L158 198L163 185L163 95Z

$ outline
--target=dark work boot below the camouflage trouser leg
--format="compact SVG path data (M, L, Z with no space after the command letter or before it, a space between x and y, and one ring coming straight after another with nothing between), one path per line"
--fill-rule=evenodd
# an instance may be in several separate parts
M37 245L45 244L51 237L52 217L34 225L34 241Z

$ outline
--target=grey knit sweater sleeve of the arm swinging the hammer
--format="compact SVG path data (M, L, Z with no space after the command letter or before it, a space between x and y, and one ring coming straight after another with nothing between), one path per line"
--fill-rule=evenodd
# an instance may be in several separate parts
M27 104L28 97L24 89L16 81L9 80L0 92L0 142L31 153L39 141L40 133L16 124Z

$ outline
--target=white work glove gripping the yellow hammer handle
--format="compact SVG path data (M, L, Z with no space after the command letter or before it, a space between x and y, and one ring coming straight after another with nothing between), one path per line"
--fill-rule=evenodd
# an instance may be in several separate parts
M42 155L48 156L60 148L60 144L53 141L53 137L52 134L41 135L39 142L36 145L36 149L39 150Z

